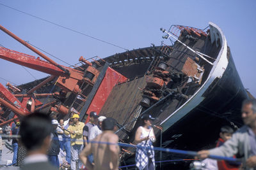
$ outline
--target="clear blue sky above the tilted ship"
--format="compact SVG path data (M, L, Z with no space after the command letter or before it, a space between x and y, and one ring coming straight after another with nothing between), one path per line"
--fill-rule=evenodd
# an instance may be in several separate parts
M75 64L81 55L103 58L125 50L3 4L128 50L147 47L150 43L160 45L163 40L160 27L168 29L170 25L178 24L204 29L210 21L214 22L227 38L244 87L256 96L256 1L0 0L0 25L61 60ZM38 56L3 31L0 31L0 45ZM24 67L0 59L0 83L5 85L8 80L20 85L47 76L27 70L32 75Z

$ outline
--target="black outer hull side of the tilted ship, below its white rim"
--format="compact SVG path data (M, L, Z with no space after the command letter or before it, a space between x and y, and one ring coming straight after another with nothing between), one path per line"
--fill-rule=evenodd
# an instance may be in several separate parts
M213 81L204 97L202 103L163 132L163 147L194 151L212 148L222 125L230 125L234 129L241 127L241 103L248 96L231 55L222 78ZM160 146L160 141L157 145ZM184 157L163 153L162 160Z

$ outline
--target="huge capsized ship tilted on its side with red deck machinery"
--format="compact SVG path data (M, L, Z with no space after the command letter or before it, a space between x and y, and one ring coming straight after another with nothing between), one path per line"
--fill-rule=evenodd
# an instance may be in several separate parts
M88 113L113 117L120 141L132 143L140 115L156 117L156 146L199 150L211 146L221 125L241 127L241 103L248 94L236 71L220 27L172 25L163 38L172 45L139 48L104 59L83 59L60 66L12 32L4 32L40 57L0 48L0 58L51 74L17 87L1 85L0 125L33 111L68 118L70 112L88 121ZM134 148L122 148L121 162L132 164ZM184 158L156 153L156 160ZM186 158L186 157L185 157Z

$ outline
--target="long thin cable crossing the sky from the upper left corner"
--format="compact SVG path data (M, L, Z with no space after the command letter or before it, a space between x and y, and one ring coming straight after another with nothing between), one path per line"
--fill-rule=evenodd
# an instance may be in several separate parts
M82 34L83 36L87 36L87 37L89 37L89 38L92 38L92 39L96 39L96 40L98 40L98 41L101 41L102 43L106 43L106 44L108 44L108 45L113 45L113 46L116 46L116 47L118 47L118 48L122 48L122 49L128 51L128 49L123 48L123 47L118 46L118 45L115 45L115 44L113 44L113 43L109 43L108 41L104 41L104 40L102 40L102 39L95 38L95 37L93 37L93 36L89 36L88 34L84 34L83 32L79 32L79 31L76 31L76 30L74 30L74 29L70 29L70 28L68 28L68 27L65 27L65 26L60 25L60 24L56 24L56 23L51 22L51 21L49 21L49 20L45 20L44 18L36 17L35 15L31 15L31 14L26 13L26 12L24 12L24 11L17 10L17 9L15 9L15 8L12 8L12 7L7 6L7 5L5 5L5 4L2 4L2 3L0 3L0 4L1 4L2 6L5 6L5 7L7 7L7 8L12 9L12 10L19 11L20 13L24 13L24 14L29 15L29 16L31 16L31 17L34 17L34 18L37 18L37 19L40 19L40 20L44 20L45 22L48 22L48 23L53 24L53 25L57 25L57 26L59 26L59 27L62 27L62 28L64 28L64 29L67 29L67 30L69 30L69 31L73 31L73 32L76 32L76 33L78 33L78 34Z

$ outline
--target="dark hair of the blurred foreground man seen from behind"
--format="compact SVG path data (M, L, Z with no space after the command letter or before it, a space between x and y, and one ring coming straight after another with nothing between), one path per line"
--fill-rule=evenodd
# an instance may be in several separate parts
M51 118L43 113L32 113L22 118L20 136L28 150L40 148L44 139L51 134Z

